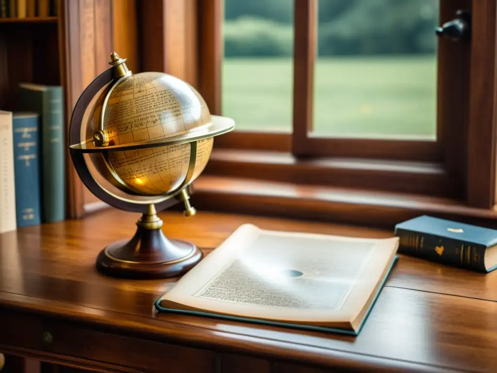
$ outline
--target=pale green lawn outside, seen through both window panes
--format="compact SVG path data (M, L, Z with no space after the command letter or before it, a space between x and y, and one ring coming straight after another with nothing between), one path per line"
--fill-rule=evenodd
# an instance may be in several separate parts
M292 123L292 60L225 59L223 115L237 129L287 130ZM354 137L429 137L436 128L434 56L320 59L314 131Z

